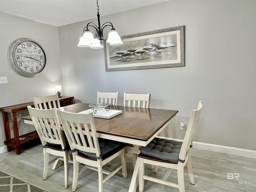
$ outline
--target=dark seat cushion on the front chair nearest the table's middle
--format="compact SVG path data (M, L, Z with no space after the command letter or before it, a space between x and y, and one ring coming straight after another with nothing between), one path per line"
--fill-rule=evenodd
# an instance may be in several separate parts
M93 159L100 159L100 158L104 159L104 157L110 156L111 154L114 154L114 152L117 152L122 148L124 148L124 145L119 142L114 142L114 141L106 140L102 138L98 138L98 141L99 141L100 152L101 152L100 157L97 157L95 153L84 152L81 150L78 150L78 153Z

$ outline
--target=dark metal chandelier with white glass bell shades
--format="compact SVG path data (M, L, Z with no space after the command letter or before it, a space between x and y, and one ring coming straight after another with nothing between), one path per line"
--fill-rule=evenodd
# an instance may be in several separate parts
M108 34L107 43L109 43L111 46L114 45L122 45L123 42L121 41L120 36L116 32L116 29L114 28L113 24L110 22L104 23L102 26L100 26L100 14L99 14L99 6L98 6L98 0L97 0L97 17L98 17L98 26L92 22L88 23L86 27L83 30L83 34L80 37L78 47L90 47L93 49L100 49L104 46L102 45L103 37L103 30L106 26L110 26L111 30ZM96 35L93 36L93 34L90 32L88 27L93 27L96 30Z

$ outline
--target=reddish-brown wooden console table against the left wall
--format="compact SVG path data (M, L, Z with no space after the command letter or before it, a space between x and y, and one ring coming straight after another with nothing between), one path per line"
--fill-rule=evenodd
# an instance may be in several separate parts
M60 98L60 105L66 106L66 105L73 104L73 99L74 99L74 97L62 96ZM4 144L7 145L8 151L12 151L12 150L16 149L17 155L21 154L21 147L25 143L39 138L36 131L24 134L22 136L19 135L16 112L26 110L27 106L29 106L29 105L34 107L33 102L28 102L28 103L22 103L22 104L17 104L17 105L0 108L0 111L2 111L2 114L3 114L4 130L5 130L5 136L6 136L6 141L4 142ZM11 134L10 134L10 124L9 124L8 113L10 113L10 116L12 119L14 138L11 138ZM25 140L20 140L20 137L25 137Z

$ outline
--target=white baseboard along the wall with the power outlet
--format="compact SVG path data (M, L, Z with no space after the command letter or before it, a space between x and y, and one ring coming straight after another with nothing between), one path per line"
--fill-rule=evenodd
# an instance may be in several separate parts
M159 137L159 138L165 138L165 137ZM173 139L173 138L171 138L171 139L176 140L176 141L181 141L181 142L183 141L181 139ZM208 144L208 143L195 142L195 141L193 141L193 148L256 159L256 151L254 151L254 150L241 149L241 148L215 145L215 144Z

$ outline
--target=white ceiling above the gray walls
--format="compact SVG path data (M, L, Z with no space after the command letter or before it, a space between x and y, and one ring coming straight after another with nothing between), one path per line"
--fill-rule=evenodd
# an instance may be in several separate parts
M99 0L100 16L170 0ZM0 12L53 26L97 17L96 0L0 0Z

